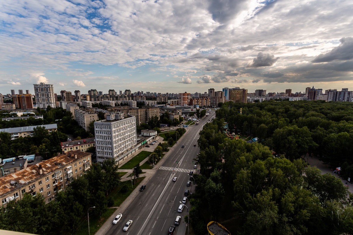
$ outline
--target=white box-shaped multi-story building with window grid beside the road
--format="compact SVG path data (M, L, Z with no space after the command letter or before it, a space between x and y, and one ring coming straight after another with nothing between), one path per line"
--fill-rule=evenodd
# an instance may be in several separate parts
M110 113L107 119L94 122L97 161L124 160L125 153L136 146L136 117Z

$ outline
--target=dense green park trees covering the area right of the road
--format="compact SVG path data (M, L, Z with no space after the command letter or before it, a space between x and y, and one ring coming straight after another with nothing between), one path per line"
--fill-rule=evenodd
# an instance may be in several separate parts
M193 231L206 234L207 223L217 221L242 235L353 234L348 188L300 157L313 153L349 161L352 112L350 103L320 101L223 104L198 140ZM231 140L225 122L231 133L258 137L260 143ZM336 154L346 155L333 156L330 141L340 143Z

